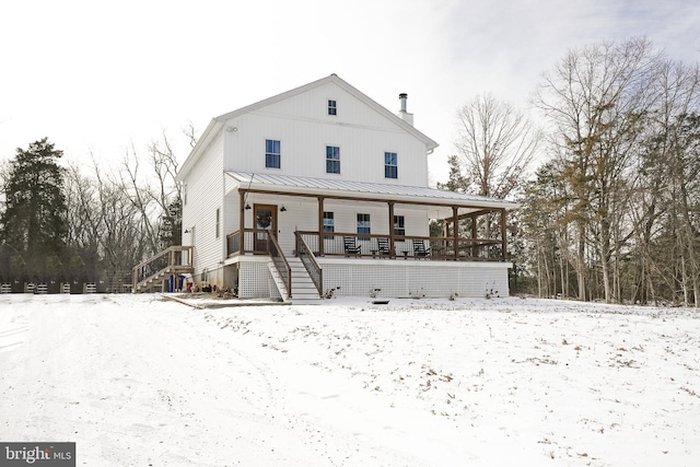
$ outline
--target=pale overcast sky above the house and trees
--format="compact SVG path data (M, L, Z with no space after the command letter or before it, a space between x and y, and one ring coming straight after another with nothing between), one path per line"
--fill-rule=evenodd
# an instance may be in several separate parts
M82 0L0 5L0 160L48 137L66 159L114 162L182 129L337 73L392 112L408 93L440 143L482 92L525 109L574 47L645 35L700 59L698 0Z

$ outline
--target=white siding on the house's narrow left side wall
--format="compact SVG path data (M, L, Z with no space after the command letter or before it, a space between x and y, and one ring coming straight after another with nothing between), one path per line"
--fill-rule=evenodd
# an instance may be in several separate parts
M223 139L214 139L205 150L187 177L187 203L183 207L183 243L194 241L195 275L207 268L213 271L223 258L225 241L225 214L223 205ZM215 214L221 209L220 235L217 238Z

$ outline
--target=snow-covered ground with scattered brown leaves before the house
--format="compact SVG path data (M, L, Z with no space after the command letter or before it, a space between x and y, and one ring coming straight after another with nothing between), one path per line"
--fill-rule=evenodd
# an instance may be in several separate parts
M0 441L72 441L84 466L700 459L692 310L0 295Z

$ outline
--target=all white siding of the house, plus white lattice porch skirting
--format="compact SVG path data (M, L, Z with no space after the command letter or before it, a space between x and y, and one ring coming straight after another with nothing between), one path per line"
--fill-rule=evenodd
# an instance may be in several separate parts
M337 115L327 114L328 100L337 103ZM398 102L397 102L398 107ZM242 255L229 259L235 262L224 280L220 262L225 256L226 234L241 229L241 212L245 226L254 227L254 210L241 211L235 183L224 178L225 171L254 174L277 173L318 178L378 184L428 187L425 140L402 122L377 112L337 82L290 94L288 98L270 100L229 114L228 121L212 120L207 148L198 148L183 177L187 183L187 203L184 206L184 244L195 246L195 276L202 269L212 271L228 287L238 271L240 293L244 297L278 296L267 262L260 255ZM265 140L281 142L281 167L265 167ZM326 173L326 145L340 148L340 174ZM385 178L384 153L397 154L398 178ZM229 184L225 189L224 184ZM245 189L244 187L241 187ZM224 192L229 195L224 196ZM294 231L318 230L318 201L315 198L270 194L247 195L246 202L277 206L277 237L287 256L295 249ZM280 209L284 206L285 211ZM215 235L215 212L221 210L220 235ZM388 236L394 227L386 202L362 202L326 199L324 211L335 213L337 234L357 233L357 214L370 214L371 234ZM408 236L428 236L429 219L435 208L396 203L395 215L402 215ZM324 240L327 250L342 252L342 237ZM374 242L360 242L365 254ZM397 254L405 249L399 242ZM382 289L382 296L410 296L425 291L427 296L483 296L487 290L508 295L508 268L504 262L431 261L417 259L346 259L319 257L324 270L324 288L339 287L339 295L369 294Z

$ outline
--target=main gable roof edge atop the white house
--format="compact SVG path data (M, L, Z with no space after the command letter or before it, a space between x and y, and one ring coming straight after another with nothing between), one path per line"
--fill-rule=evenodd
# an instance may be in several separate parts
M192 148L189 155L187 156L187 160L185 161L179 172L177 173L177 179L182 182L182 178L190 171L195 162L201 155L203 148L206 148L209 144L209 142L213 137L215 137L220 131L222 131L223 125L226 120L238 117L241 115L248 114L250 112L257 110L270 104L284 101L295 95L303 94L310 90L323 86L328 83L334 83L338 85L339 87L341 87L342 90L345 90L346 92L354 96L357 100L365 104L368 107L372 108L373 110L384 116L385 118L392 120L394 124L396 124L398 127L404 129L406 132L408 132L409 135L412 135L420 141L422 141L425 144L425 149L429 153L432 152L435 148L438 148L438 143L435 141L427 137L421 131L417 130L412 125L407 124L406 121L404 121L404 119L401 119L397 115L394 115L386 107L383 107L376 101L370 98L368 95L359 91L357 87L350 85L347 81L342 80L340 77L332 73L326 78L322 78L320 80L316 80L308 84L294 87L293 90L283 92L272 97L268 97L266 100L256 102L255 104L250 104L245 107L241 107L236 110L229 112L228 114L223 114L212 118L209 125L207 126L207 128L205 129L203 133L201 135L201 137L197 140L197 144L195 144L195 148Z

